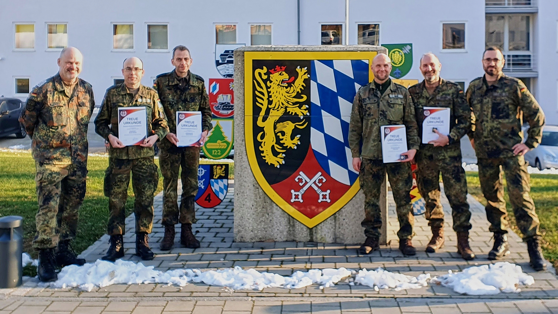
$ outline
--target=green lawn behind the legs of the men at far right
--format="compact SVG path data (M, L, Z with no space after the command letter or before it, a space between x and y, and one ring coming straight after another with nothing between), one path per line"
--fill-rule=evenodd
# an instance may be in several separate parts
M479 183L477 172L467 172L467 183L469 193L478 199L483 205L486 204ZM558 175L555 174L531 174L531 198L535 202L538 219L541 222L543 233L542 251L546 259L550 260L554 267L558 267ZM517 229L515 218L509 203L509 197L504 193L507 203L509 220L513 231L521 235Z

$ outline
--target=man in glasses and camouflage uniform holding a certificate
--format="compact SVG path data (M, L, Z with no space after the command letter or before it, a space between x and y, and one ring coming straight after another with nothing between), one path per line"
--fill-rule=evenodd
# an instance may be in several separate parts
M124 83L107 89L95 119L95 132L110 142L109 165L104 179L104 193L109 197L107 234L110 235L110 247L103 260L115 261L124 256L124 206L130 173L136 196L136 255L143 260L153 259L147 237L153 226L153 193L159 180L157 165L153 162L153 144L165 137L169 128L157 92L141 85L143 73L140 59L126 59L122 69ZM146 107L147 138L140 145L124 146L118 139L118 108L121 107Z

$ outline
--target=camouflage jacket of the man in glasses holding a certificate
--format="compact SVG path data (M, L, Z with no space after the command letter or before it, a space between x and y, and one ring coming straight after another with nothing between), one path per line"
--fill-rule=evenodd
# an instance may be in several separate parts
M140 85L136 97L128 92L124 83L114 85L107 89L103 103L95 118L95 132L108 141L110 134L118 137L118 108L119 107L146 107L147 136L157 134L162 139L169 133L167 119L159 102L157 92L147 86ZM150 118L151 117L151 118ZM153 147L139 145L124 148L109 148L110 157L118 159L137 159L155 155Z

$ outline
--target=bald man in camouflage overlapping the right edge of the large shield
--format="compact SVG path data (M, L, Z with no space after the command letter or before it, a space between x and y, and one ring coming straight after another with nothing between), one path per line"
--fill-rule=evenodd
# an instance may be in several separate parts
M366 240L360 246L359 252L369 254L379 248L382 226L379 196L387 172L400 224L397 232L400 240L399 249L404 255L415 255L416 249L411 241L414 235L415 218L411 212L409 195L412 174L411 166L407 162L415 157L416 150L419 149L415 107L407 89L389 79L392 66L386 54L378 54L374 57L371 66L374 82L361 87L357 92L349 124L349 146L353 155L353 168L360 172L360 188L364 192L365 217L361 225L365 229ZM380 127L383 125L406 127L409 150L402 154L405 159L400 163L384 164L382 161Z

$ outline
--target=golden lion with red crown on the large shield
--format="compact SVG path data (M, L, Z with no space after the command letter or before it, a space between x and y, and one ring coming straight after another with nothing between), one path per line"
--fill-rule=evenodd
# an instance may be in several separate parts
M296 149L296 145L300 144L300 135L292 136L292 130L304 129L308 122L303 118L309 115L308 106L302 104L306 101L306 95L300 94L302 89L306 86L304 80L310 78L307 74L307 68L301 69L300 66L296 68L298 77L289 78L285 72L286 66L276 66L271 69L269 75L266 74L267 68L256 69L254 71L254 84L256 84L256 104L262 108L258 116L258 126L263 127L263 131L259 132L257 140L261 142L259 150L262 151L263 160L267 164L279 168L284 164L285 154L287 149ZM264 84L264 79L267 79L267 84ZM292 81L295 81L292 83ZM291 84L292 83L292 84ZM297 98L297 95L299 98ZM284 121L278 122L277 120L285 114L285 110L294 116L301 118L300 122ZM267 116L267 117L266 117ZM274 150L276 153L274 153Z

